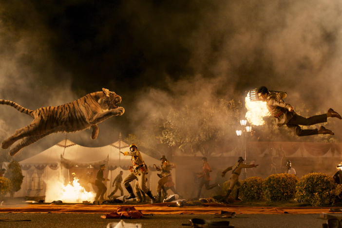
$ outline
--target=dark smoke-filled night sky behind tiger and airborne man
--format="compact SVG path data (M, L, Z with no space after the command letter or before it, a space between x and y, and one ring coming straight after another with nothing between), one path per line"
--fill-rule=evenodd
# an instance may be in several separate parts
M84 146L107 145L119 132L149 146L159 120L188 135L207 116L212 132L195 140L219 132L229 142L235 132L226 126L238 125L235 108L261 85L286 91L300 114L342 112L341 10L338 0L0 2L0 98L37 109L102 87L121 95L125 114L99 124L96 140L90 130L67 134ZM0 138L30 121L1 106ZM336 140L340 124L327 125ZM16 156L63 138L47 136ZM191 140L166 143L182 148Z

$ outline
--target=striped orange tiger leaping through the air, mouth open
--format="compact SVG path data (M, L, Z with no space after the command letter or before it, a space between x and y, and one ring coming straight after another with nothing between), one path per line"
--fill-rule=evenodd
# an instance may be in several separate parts
M92 128L92 139L98 135L97 123L100 123L111 116L122 115L125 112L121 103L121 96L108 89L102 88L100 92L87 94L73 102L39 108L37 110L26 109L19 104L0 99L0 104L10 105L19 112L28 114L34 119L26 127L20 128L12 136L1 143L3 149L9 148L14 142L23 138L9 152L15 155L22 148L38 141L51 133L76 132Z

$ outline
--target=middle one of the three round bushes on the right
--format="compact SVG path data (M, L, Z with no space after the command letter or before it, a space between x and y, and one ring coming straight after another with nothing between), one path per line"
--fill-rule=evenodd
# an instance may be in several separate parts
M298 178L293 174L279 173L266 177L263 183L264 198L269 202L292 199Z

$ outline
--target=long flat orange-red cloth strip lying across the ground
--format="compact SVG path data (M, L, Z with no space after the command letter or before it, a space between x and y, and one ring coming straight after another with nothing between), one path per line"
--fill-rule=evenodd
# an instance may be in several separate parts
M133 206L133 205L132 205ZM131 207L132 207L131 206ZM121 205L4 205L0 206L0 213L110 213L117 211ZM239 205L205 203L203 206L176 207L175 203L134 205L143 214L221 214L222 211L234 211L236 214L319 214L342 213L331 212L336 207L247 207Z

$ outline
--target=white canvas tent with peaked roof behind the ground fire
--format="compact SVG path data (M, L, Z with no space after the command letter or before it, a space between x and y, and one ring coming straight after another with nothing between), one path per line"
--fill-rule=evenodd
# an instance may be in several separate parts
M19 162L24 180L21 190L16 192L15 196L44 196L46 183L50 177L61 176L67 182L72 172L82 169L91 170L96 175L101 164L106 164L105 176L108 175L110 179L106 182L108 195L113 190L112 183L115 176L122 170L125 178L129 174L129 166L132 166L131 156L123 156L120 150L122 152L129 150L129 145L122 141L121 137L119 141L103 147L83 147L68 139L62 140L49 149ZM148 187L155 194L159 178L153 164L160 165L160 160L143 152L142 156L150 170ZM124 191L127 194L127 191Z

